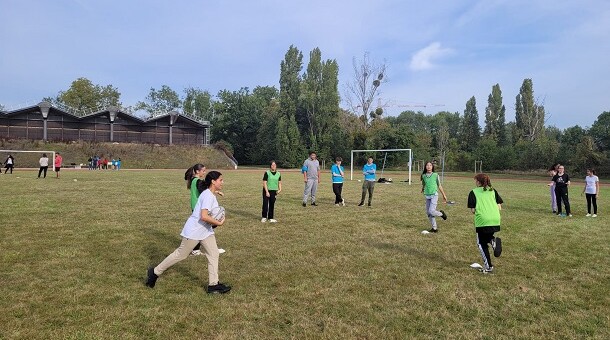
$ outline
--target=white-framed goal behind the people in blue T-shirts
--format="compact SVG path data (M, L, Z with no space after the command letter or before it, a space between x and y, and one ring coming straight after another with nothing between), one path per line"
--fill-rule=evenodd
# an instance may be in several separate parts
M369 157L377 165L377 179L394 177L411 185L411 149L352 150L350 180L354 179L354 167L356 171L362 169Z

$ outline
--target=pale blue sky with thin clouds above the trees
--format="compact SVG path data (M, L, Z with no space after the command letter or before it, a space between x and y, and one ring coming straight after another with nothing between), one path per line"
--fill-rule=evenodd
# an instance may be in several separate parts
M525 78L549 125L610 111L607 0L0 0L0 104L37 103L79 77L117 87L124 105L162 85L279 88L290 45L305 65L315 47L336 59L342 96L354 57L385 61L389 115L463 113L475 96L482 122L499 83L512 121Z

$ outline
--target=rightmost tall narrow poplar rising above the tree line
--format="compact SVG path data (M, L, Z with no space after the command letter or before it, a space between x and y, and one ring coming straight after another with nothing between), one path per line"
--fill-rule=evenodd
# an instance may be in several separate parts
M534 141L544 131L546 112L534 98L534 85L531 79L523 80L515 103L515 123L519 138Z

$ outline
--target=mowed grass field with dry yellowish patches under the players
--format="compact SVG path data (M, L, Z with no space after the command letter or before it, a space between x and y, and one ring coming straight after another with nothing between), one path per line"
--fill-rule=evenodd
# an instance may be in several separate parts
M355 180L334 206L325 173L319 206L303 208L302 175L284 171L279 223L263 224L263 170L223 173L223 296L205 293L203 256L144 286L180 243L184 170L0 175L0 338L610 338L610 187L593 219L574 183L574 217L560 218L546 180L492 176L504 253L484 275L469 267L481 262L470 175L445 178L456 204L423 235L421 187L404 175L386 174L394 183L378 183L367 208Z

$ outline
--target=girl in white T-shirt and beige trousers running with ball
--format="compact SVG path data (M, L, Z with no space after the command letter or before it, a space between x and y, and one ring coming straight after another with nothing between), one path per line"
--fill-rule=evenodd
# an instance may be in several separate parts
M214 228L221 226L225 218L218 221L209 215L212 209L218 207L215 192L222 190L223 178L218 171L210 171L205 176L204 190L191 216L186 220L184 228L180 233L182 241L180 246L168 255L156 267L150 267L147 271L146 286L154 288L159 276L174 264L186 259L196 244L201 244L208 260L208 294L224 294L231 290L230 286L220 283L218 280L218 259L219 251L216 244Z

